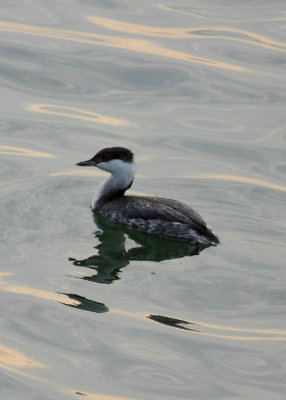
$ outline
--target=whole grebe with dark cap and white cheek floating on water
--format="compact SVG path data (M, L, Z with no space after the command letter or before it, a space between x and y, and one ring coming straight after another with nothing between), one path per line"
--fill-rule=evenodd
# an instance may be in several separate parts
M112 222L162 238L194 244L217 245L218 237L192 208L172 199L125 196L133 183L133 153L124 147L100 150L78 166L92 166L110 172L92 199L92 210Z

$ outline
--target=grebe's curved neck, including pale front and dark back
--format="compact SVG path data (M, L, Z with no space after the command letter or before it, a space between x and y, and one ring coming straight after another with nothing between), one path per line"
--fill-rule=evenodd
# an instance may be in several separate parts
M133 183L135 175L134 163L121 163L111 172L111 176L101 183L93 200L92 209L95 210L100 202L124 196L124 193Z

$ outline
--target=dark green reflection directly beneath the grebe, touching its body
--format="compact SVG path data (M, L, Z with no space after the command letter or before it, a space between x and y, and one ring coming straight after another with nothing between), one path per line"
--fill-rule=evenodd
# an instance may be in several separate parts
M110 284L120 279L119 273L130 261L159 262L194 256L208 247L153 237L118 226L96 214L94 222L98 228L95 233L99 241L95 247L97 254L83 260L69 258L74 265L95 271L91 276L82 277L92 282ZM134 246L126 249L130 241Z

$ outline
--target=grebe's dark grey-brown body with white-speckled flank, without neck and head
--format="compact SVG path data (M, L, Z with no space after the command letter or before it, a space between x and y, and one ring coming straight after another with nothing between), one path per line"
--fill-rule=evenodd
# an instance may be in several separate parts
M94 211L113 222L154 236L200 244L219 243L202 217L176 200L121 196L99 202Z

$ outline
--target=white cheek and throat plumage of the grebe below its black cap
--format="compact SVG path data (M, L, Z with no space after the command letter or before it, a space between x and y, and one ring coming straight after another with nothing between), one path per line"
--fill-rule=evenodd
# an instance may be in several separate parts
M101 183L95 193L91 203L92 210L96 209L100 200L112 198L116 193L127 190L131 186L135 175L135 164L122 160L102 162L97 164L97 168L110 172L111 176Z

